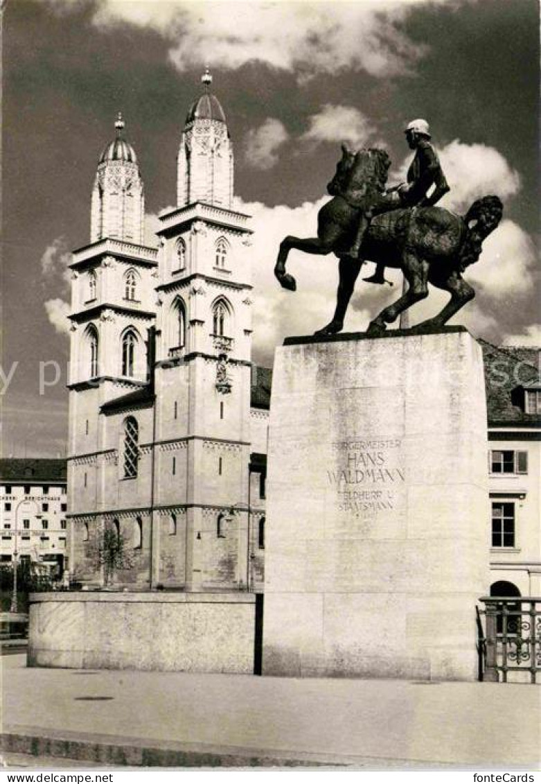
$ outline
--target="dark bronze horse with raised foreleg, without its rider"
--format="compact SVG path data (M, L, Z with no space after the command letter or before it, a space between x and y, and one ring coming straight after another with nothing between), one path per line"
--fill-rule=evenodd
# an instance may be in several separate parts
M334 252L340 259L337 306L332 321L316 335L341 332L363 260L381 261L402 270L409 287L396 302L377 315L367 330L369 335L384 332L386 325L428 296L428 283L451 295L449 303L420 327L441 327L475 296L462 272L478 260L483 240L500 223L503 205L497 196L474 201L465 216L441 207L391 209L384 187L390 165L384 150L349 151L342 145L342 157L333 180L327 186L333 196L319 210L316 238L288 236L280 242L274 273L284 289L294 291L295 279L286 272L291 249L325 256ZM359 258L348 256L362 212L374 216L362 240Z

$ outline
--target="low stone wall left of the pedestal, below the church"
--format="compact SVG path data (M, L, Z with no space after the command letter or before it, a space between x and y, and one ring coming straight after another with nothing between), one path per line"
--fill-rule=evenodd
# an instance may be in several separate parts
M254 672L251 593L33 593L28 666Z

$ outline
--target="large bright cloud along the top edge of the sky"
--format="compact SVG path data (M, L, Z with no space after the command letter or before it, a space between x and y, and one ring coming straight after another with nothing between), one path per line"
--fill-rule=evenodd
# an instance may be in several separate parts
M56 9L74 0L49 0ZM100 0L98 27L132 24L158 31L179 71L210 59L236 69L251 60L291 71L299 79L346 68L377 77L409 71L425 47L401 24L409 2L127 2Z

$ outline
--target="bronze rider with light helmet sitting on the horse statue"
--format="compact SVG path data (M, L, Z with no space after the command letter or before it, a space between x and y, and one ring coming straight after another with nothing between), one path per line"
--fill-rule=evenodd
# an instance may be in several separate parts
M449 185L442 172L438 154L432 147L429 139L431 138L430 129L426 120L413 120L407 125L406 142L410 150L415 150L415 156L409 166L407 173L407 183L389 189L384 194L381 203L374 205L375 209L371 214L362 216L359 223L359 230L355 237L355 243L348 253L355 259L359 256L362 238L370 223L370 217L381 212L388 212L391 209L400 207L431 207L435 205L449 191ZM430 196L427 192L435 186ZM383 284L385 265L377 264L376 271L370 278L364 278L369 283Z

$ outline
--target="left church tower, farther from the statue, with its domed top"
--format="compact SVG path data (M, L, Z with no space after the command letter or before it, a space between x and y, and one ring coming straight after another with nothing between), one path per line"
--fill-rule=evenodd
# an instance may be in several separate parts
M115 138L99 157L92 189L91 242L74 251L70 264L70 563L83 576L96 572L92 546L105 524L118 524L131 538L135 520L124 520L116 510L145 506L149 498L140 482L125 478L129 470L138 476L148 470L135 441L152 438L147 363L156 318L157 249L142 244L143 230L142 177L118 114ZM127 406L118 405L128 397L133 407L134 395L139 409L146 406L137 432ZM144 551L138 550L134 579L148 574ZM89 579L98 580L99 572Z

